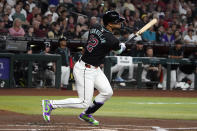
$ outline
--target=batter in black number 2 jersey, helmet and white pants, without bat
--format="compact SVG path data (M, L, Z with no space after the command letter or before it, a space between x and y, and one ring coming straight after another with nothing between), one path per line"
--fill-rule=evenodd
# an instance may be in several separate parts
M84 54L73 69L79 98L42 100L45 121L50 121L51 111L56 108L85 108L79 119L92 125L99 125L92 114L113 95L111 85L99 66L111 50L116 51L117 54L125 50L125 44L120 43L112 33L114 29L121 28L123 21L124 18L116 11L108 11L103 16L104 26L94 25L90 28ZM92 101L94 88L99 94Z

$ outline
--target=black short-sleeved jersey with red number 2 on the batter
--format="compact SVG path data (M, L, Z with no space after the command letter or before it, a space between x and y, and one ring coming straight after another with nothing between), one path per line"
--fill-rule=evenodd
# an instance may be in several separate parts
M99 66L111 50L119 50L119 40L105 27L94 25L90 28L88 41L84 46L82 60L90 65Z

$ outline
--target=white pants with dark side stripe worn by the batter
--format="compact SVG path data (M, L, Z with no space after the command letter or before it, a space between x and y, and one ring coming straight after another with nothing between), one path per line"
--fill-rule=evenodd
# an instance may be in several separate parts
M99 91L96 102L104 103L113 95L111 85L100 67L87 68L81 60L75 64L73 74L79 98L51 100L53 108L88 108L92 104L94 87Z

